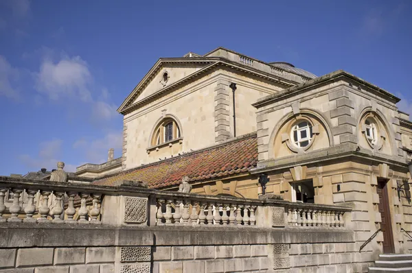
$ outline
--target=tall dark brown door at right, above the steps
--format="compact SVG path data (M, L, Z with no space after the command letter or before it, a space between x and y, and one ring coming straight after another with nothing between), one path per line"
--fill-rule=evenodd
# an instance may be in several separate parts
M382 217L380 223L380 229L383 233L383 252L395 253L395 244L393 244L393 232L391 224L391 211L389 209L389 194L387 180L378 180L378 189L376 189L379 195L379 212Z

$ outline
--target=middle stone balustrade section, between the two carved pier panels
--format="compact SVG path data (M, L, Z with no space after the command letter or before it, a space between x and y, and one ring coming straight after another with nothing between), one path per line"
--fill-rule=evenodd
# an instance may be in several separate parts
M260 200L205 195L187 197L181 193L159 195L156 202L157 226L256 226L256 209L263 205Z

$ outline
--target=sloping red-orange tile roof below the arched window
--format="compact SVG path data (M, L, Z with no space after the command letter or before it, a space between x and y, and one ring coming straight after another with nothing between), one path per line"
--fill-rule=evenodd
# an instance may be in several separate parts
M149 188L179 185L183 176L190 181L220 178L247 173L258 162L256 134L247 134L220 145L137 167L93 182L95 185L117 185L117 181L145 182Z

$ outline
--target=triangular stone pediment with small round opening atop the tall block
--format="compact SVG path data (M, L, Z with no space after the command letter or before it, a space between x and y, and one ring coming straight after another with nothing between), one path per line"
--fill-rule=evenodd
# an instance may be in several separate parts
M161 93L161 91L209 67L214 62L216 60L210 58L159 59L117 111L123 112L129 106Z

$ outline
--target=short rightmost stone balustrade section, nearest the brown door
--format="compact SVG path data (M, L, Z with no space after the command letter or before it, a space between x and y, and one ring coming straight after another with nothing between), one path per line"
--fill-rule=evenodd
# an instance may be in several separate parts
M289 203L286 206L288 226L338 228L345 226L343 215L351 211L345 206Z

